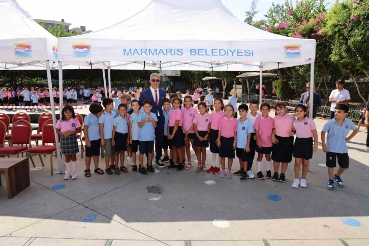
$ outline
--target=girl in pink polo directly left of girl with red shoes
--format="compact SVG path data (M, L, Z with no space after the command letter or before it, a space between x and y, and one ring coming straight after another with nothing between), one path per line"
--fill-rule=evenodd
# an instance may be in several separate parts
M206 172L206 148L209 146L209 133L211 127L211 114L207 113L207 106L205 102L199 103L199 114L196 114L195 118L193 119L194 129L195 129L195 139L194 139L194 146L196 147L196 157L198 167L195 172Z

